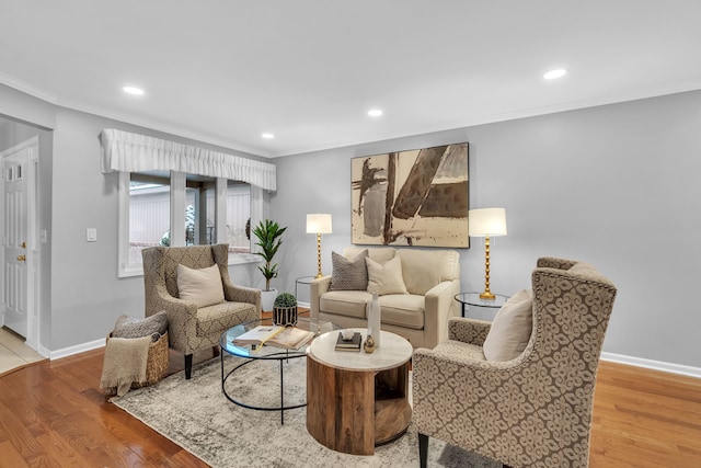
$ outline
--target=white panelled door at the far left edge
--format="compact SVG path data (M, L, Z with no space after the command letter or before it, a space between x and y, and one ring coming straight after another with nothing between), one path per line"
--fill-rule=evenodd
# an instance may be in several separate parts
M28 145L19 145L2 152L2 310L4 326L25 338L30 319L27 264L32 261L27 238L31 202L27 180L37 149L36 140L30 140Z

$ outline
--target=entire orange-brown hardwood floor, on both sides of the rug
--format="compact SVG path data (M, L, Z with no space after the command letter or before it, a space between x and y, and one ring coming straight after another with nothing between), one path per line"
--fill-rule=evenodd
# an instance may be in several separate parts
M0 377L0 467L207 466L107 401L99 389L103 355ZM182 357L171 357L177 370ZM602 362L590 466L701 466L701 379Z

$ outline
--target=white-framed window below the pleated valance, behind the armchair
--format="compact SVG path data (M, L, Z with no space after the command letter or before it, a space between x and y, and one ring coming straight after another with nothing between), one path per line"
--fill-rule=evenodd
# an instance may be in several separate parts
M246 254L251 252L252 212L262 213L261 195L258 187L226 179L164 171L119 172L118 276L141 275L141 250L152 246L227 242L230 264L256 261ZM183 228L171 232L171 225Z

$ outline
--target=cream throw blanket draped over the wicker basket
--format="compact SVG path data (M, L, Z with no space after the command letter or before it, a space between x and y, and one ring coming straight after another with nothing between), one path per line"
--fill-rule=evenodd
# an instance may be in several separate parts
M100 387L125 396L133 383L146 381L146 363L151 336L111 338L105 347Z

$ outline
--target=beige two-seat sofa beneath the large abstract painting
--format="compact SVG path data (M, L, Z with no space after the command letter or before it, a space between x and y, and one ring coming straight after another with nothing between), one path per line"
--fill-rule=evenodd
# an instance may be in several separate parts
M368 256L377 262L376 265L387 265L390 261L397 264L393 259L398 256L401 262L401 279L406 288L405 294L380 295L382 330L404 336L414 347L434 347L445 340L448 319L458 316L458 304L455 300L455 295L460 290L458 252L350 247L344 249L343 256L357 259L366 249ZM372 283L371 274L369 279ZM311 283L311 316L343 328L366 328L366 306L371 297L367 288L334 290L332 275L327 275Z

